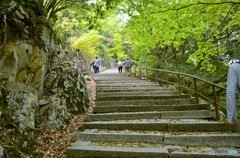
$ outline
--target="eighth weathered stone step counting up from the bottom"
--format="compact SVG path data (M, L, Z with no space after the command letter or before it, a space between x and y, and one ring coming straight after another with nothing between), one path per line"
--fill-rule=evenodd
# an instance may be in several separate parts
M97 97L102 96L125 96L125 95L177 95L177 91L136 91L136 92L97 92Z

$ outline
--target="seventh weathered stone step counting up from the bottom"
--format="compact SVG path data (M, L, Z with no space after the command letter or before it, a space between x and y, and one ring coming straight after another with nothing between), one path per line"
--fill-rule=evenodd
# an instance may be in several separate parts
M97 96L98 101L103 100L159 100L159 99L178 99L178 98L190 98L190 95L125 95L125 96Z

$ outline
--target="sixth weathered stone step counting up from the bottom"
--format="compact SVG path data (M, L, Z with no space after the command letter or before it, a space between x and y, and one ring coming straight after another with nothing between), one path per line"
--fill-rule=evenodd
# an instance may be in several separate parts
M97 101L96 106L114 105L170 105L170 104L194 104L194 98L162 99L162 100L121 100L121 101Z

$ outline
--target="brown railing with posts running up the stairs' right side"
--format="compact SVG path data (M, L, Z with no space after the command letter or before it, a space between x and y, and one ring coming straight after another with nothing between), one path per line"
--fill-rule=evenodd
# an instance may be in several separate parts
M134 69L134 71L132 69ZM220 120L219 108L221 108L223 112L226 112L225 106L220 104L220 101L223 104L226 104L225 87L222 87L213 82L209 82L197 76L181 72L136 66L132 67L132 69L131 75L139 77L140 79L144 78L147 80L158 82L160 84L162 83L167 87L169 87L169 85L177 86L176 88L178 89L179 95L181 95L184 91L192 93L192 95L195 96L197 104L200 103L201 99L209 101L209 103L212 103L214 106L217 120ZM207 86L212 88L211 91L206 92L200 89L201 86ZM209 88L207 89L209 90Z

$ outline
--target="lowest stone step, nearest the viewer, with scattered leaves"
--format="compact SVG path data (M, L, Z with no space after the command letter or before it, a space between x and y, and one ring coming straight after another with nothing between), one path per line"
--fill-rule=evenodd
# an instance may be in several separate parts
M94 143L77 141L67 150L68 158L239 158L238 148L164 146L148 143Z

